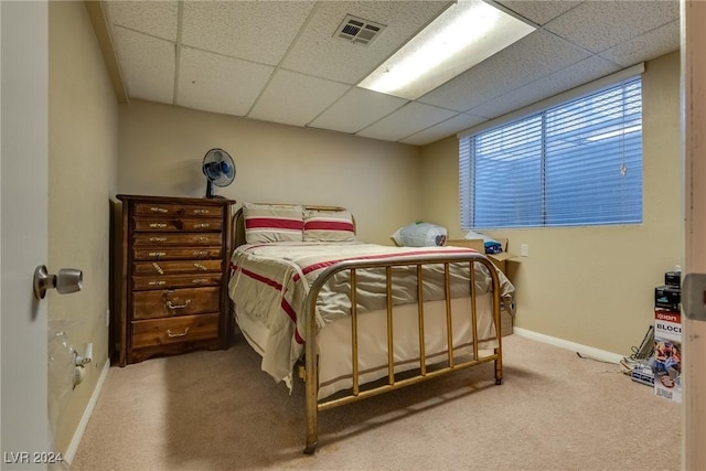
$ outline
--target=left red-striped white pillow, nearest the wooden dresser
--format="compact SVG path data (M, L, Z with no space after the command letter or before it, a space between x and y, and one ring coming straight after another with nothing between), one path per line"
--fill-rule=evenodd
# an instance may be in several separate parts
M288 204L243 203L248 244L302 242L303 207Z

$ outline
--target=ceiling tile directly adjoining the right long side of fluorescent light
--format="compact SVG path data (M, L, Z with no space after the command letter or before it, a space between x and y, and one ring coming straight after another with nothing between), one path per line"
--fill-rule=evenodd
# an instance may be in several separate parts
M574 44L538 30L429 92L419 101L466 111L588 55Z

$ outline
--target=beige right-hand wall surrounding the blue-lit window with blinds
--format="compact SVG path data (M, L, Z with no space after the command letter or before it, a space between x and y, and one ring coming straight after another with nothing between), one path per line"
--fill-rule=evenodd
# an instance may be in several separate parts
M458 143L422 148L421 217L463 237L458 210ZM499 184L501 184L499 182ZM682 265L680 55L645 65L643 75L643 224L498 231L510 251L528 245L514 264L516 325L621 355L630 354L653 322L654 287Z

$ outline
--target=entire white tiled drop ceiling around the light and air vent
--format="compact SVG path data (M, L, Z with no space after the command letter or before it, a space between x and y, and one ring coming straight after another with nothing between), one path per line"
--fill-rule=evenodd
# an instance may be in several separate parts
M418 146L680 46L678 0L485 1L539 30L411 103L354 84L451 0L103 6L130 98ZM385 29L335 38L349 14Z

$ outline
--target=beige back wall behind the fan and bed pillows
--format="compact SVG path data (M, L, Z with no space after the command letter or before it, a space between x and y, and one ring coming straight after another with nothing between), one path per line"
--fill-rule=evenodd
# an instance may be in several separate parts
M414 146L133 100L120 106L120 193L203 196L201 164L218 147L236 162L216 193L243 203L350 208L359 236L389 244L418 217L419 150Z

